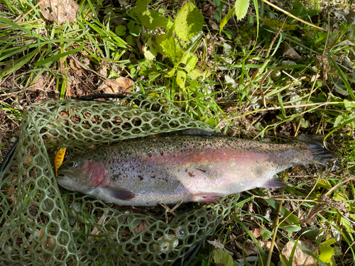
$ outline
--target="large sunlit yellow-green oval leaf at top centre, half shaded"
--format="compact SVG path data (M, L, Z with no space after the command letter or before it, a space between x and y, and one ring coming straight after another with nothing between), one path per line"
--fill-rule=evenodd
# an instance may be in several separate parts
M204 18L200 10L197 9L192 2L187 2L176 15L174 21L175 33L182 40L189 40L200 31Z

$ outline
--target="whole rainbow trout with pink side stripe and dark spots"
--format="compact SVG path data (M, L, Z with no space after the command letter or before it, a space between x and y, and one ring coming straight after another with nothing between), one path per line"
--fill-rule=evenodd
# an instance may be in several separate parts
M70 158L56 178L66 189L119 205L217 203L218 197L255 187L285 187L273 175L289 167L334 160L319 135L283 145L207 135L110 145Z

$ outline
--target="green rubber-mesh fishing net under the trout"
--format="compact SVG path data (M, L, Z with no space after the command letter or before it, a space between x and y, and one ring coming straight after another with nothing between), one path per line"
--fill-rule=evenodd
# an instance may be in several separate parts
M53 162L60 147L73 154L187 128L214 130L156 96L32 104L17 157L0 173L1 265L186 265L237 195L185 204L165 223L163 208L117 206L58 187Z

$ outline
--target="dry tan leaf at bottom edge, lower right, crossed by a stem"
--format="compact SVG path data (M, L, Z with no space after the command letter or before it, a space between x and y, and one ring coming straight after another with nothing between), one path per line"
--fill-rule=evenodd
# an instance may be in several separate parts
M310 252L312 252L313 254L315 254L317 251L317 248L310 242L299 240L298 243L300 245L304 246L305 248L307 248L308 250L310 250ZM285 245L285 247L283 247L283 250L281 250L281 254L284 255L287 260L290 258L290 255L292 253L294 245L295 245L295 243L293 243L292 241L289 241ZM307 253L305 253L305 251L303 251L301 248L296 247L295 255L293 255L293 264L292 265L294 265L294 266L303 266L303 265L317 266L318 263L317 263L317 260L315 260L312 256L308 255Z

